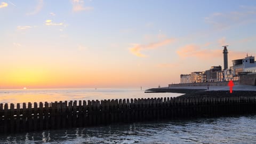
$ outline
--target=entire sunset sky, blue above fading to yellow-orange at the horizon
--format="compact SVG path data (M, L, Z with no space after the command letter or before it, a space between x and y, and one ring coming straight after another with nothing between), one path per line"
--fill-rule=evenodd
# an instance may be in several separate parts
M0 89L157 87L255 56L256 1L0 0Z

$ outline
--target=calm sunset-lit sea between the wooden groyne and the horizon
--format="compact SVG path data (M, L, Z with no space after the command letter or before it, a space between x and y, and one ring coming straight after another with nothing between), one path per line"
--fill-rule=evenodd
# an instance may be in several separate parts
M0 90L0 103L54 102L70 100L104 100L177 97L180 93L145 93L138 89L20 89Z

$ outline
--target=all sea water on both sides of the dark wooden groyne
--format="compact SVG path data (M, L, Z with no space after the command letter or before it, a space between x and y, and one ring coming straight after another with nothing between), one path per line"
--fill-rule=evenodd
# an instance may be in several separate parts
M0 90L0 103L178 97L139 89ZM256 143L256 114L0 135L0 143Z

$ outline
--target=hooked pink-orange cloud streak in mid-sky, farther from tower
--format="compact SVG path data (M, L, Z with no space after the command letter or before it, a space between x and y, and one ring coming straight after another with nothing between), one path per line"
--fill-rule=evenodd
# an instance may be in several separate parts
M145 54L142 54L141 51L143 50L150 50L150 49L157 49L158 47L170 44L175 42L174 38L164 39L163 41L156 42L156 43L150 43L147 45L141 45L141 44L133 44L133 47L130 48L130 52L137 57L146 57Z

